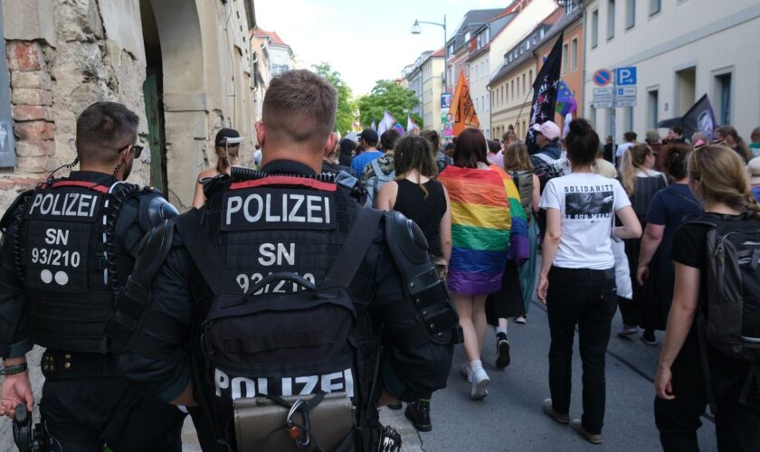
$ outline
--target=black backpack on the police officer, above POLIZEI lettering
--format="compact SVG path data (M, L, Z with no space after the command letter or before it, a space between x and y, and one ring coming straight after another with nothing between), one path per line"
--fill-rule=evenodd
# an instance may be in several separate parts
M332 445L329 449L353 449L356 435L366 443L364 436L371 433L366 423L373 403L371 392L376 389L376 369L374 362L366 362L372 359L365 353L367 342L371 342L365 337L369 332L362 327L366 313L357 314L358 304L348 285L372 244L381 217L381 211L357 208L356 221L337 259L317 284L296 273L278 272L262 278L245 293L224 269L221 256L204 233L198 212L193 209L177 217L177 230L185 247L213 292L207 313L197 327L198 358L202 363L196 364L201 370L195 370L195 378L207 382L205 388L204 384L197 386L201 403L211 403L211 413L214 409L228 410L230 414L224 418L229 418L235 410L237 422L238 405L256 405L255 397L274 401L287 412L318 409L323 399L331 397L325 398L325 392L345 393L345 397L354 400L355 419L359 421L354 431L341 433L341 447L336 447L335 438L325 438L335 436L335 432L327 433L329 428L312 424L307 431L321 447ZM306 290L278 292L284 284ZM209 391L211 381L216 397L214 388ZM303 401L290 404L288 396L303 396ZM212 414L212 423L214 418ZM253 449L271 450L265 446L290 441L282 438L289 435L288 425L272 425L275 427ZM220 432L215 435L225 436ZM240 437L239 434L238 442ZM296 450L295 443L290 441L290 445Z

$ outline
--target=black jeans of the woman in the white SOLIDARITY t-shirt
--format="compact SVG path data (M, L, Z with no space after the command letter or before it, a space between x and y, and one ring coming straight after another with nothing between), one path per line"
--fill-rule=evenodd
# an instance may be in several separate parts
M575 325L584 376L584 428L601 433L604 423L604 353L615 314L615 272L557 268L549 272L546 307L552 344L549 347L549 390L560 413L570 410Z

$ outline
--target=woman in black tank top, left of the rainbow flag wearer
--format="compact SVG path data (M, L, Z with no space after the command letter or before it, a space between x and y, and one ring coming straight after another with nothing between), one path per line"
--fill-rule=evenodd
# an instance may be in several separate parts
M443 281L451 258L451 208L446 188L434 178L438 165L422 135L406 135L394 149L395 180L377 194L377 208L397 211L413 220L425 235L428 253ZM409 403L404 415L420 431L430 431L430 396Z

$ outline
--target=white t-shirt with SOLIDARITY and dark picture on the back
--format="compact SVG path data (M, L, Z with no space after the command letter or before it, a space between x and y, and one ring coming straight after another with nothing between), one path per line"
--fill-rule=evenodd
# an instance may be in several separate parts
M550 180L539 206L560 212L562 235L554 266L613 268L613 212L629 205L628 195L615 179L574 173Z

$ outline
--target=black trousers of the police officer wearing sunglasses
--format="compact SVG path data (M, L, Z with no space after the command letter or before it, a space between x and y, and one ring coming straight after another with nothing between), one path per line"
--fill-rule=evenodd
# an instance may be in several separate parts
M182 450L185 414L127 381L45 381L40 403L53 452Z

